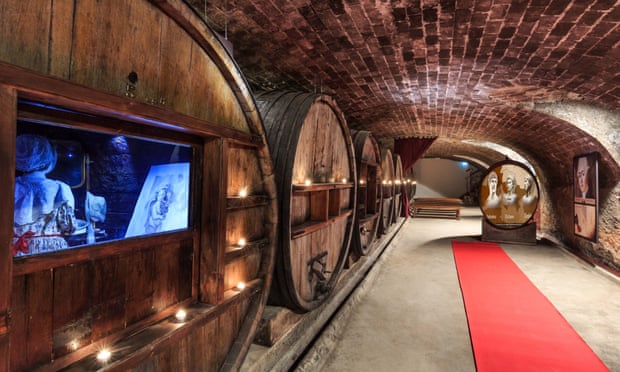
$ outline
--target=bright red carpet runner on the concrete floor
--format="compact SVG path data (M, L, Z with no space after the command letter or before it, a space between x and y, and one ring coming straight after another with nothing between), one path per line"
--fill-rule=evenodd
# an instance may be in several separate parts
M452 249L479 372L609 370L499 245Z

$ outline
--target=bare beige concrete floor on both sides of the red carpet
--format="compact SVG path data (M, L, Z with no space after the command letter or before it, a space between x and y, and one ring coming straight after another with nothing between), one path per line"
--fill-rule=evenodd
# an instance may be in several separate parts
M335 339L328 355L297 369L475 371L450 241L479 237L481 216L477 208L463 212L458 221L405 222L353 310L336 316L342 331L323 336ZM501 246L610 370L620 371L618 278L551 244Z

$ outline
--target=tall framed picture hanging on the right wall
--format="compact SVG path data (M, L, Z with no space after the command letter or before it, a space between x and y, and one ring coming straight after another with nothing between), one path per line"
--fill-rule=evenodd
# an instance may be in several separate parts
M598 240L598 153L573 158L575 235Z

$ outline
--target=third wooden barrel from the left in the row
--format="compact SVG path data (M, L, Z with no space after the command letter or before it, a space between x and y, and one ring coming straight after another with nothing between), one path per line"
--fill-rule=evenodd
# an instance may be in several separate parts
M358 179L357 216L353 223L351 253L356 257L371 253L378 235L383 206L381 196L381 150L372 133L351 131Z

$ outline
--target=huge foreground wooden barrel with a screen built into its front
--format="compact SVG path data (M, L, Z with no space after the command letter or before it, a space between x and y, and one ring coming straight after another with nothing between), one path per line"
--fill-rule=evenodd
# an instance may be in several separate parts
M0 370L237 370L277 231L240 70L181 0L2 6ZM57 152L54 235L13 224L35 141Z

